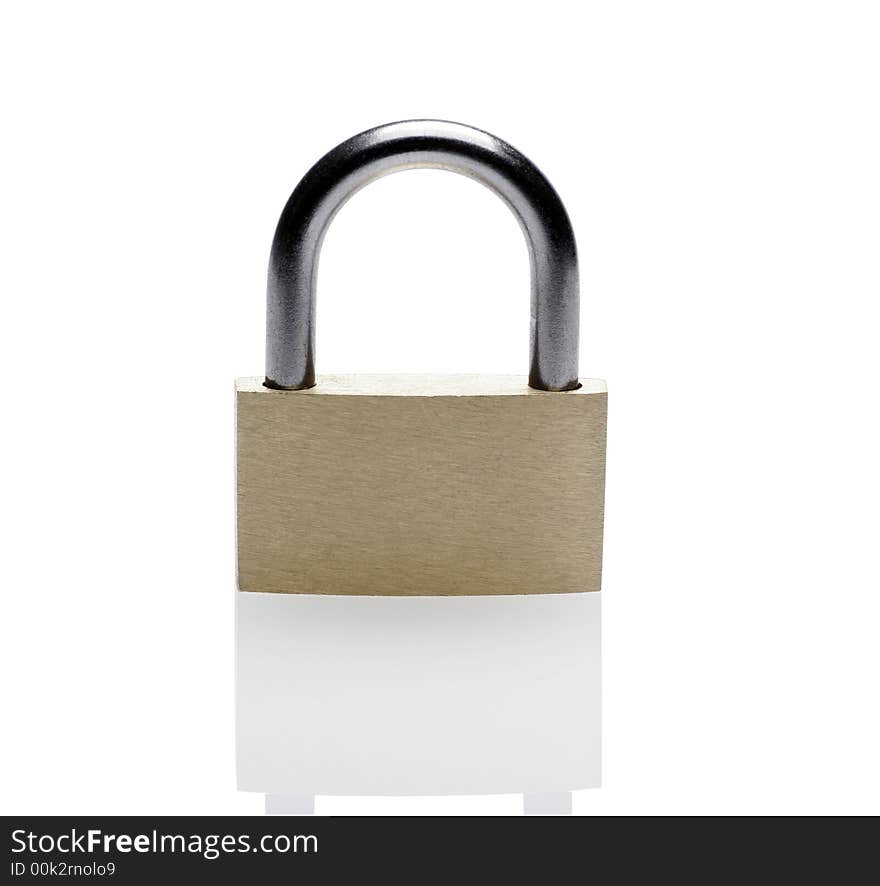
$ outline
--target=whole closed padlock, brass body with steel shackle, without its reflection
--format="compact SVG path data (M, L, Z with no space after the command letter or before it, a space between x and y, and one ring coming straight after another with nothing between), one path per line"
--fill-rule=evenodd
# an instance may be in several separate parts
M516 376L314 374L327 225L369 181L441 167L513 210L532 268L531 366ZM266 378L237 383L242 591L486 595L598 591L606 389L578 380L574 235L542 173L440 121L339 145L293 192L269 271Z

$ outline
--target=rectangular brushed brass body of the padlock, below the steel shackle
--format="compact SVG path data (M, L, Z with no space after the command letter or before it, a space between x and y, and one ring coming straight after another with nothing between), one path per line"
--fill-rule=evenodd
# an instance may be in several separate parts
M605 383L236 383L238 580L289 594L598 591Z

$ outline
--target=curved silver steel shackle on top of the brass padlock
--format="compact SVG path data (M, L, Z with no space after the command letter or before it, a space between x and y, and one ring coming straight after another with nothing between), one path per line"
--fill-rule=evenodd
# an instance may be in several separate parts
M577 247L562 201L543 173L488 132L442 120L406 120L355 135L322 157L291 194L269 260L266 381L315 384L315 292L327 227L371 181L403 169L448 169L474 178L510 207L525 234L532 277L529 385L578 383Z

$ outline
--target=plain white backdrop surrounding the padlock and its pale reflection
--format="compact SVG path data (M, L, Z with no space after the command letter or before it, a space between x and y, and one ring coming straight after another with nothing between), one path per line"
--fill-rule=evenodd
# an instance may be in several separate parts
M299 177L430 116L554 183L609 383L605 786L575 812L880 812L875 4L4 10L0 811L261 811L232 381ZM319 303L319 372L526 371L522 236L464 178L355 197Z

